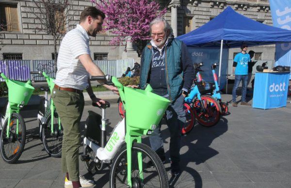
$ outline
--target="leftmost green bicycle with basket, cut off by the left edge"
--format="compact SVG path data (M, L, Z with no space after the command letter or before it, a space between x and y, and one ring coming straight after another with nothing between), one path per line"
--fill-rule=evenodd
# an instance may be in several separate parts
M8 103L0 123L0 152L6 163L15 163L23 152L26 139L26 126L19 111L29 102L34 87L30 80L23 83L11 80L3 73L0 76L8 87Z

